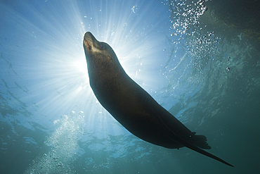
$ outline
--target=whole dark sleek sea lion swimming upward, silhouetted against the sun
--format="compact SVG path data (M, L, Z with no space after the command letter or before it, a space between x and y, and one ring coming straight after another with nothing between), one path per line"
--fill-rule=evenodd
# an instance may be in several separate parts
M132 80L113 49L86 32L83 41L89 83L100 104L126 130L146 142L169 149L188 147L232 166L202 149L211 149L204 135L195 135Z

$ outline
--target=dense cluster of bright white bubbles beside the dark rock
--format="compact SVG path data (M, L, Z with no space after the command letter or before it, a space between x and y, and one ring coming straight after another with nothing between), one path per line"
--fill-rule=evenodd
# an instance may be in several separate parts
M220 39L202 24L201 16L207 11L204 1L170 0L170 9L173 44L183 44L192 57L190 64L195 70L203 70L209 59L218 53Z

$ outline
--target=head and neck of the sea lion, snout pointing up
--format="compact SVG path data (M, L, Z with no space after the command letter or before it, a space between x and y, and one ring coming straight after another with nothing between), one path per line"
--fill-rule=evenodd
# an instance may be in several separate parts
M86 32L83 46L92 88L100 87L109 80L124 74L124 69L109 44L99 42L91 32Z

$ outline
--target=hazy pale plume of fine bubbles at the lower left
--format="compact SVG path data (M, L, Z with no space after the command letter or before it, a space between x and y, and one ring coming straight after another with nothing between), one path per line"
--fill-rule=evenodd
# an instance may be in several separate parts
M83 112L72 111L55 120L54 124L57 129L45 142L51 150L32 161L25 173L74 173L70 164L77 159L78 139L83 133Z

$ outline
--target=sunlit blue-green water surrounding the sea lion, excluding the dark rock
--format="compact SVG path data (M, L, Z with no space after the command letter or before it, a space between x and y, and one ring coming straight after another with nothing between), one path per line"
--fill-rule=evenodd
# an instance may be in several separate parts
M259 173L258 42L196 2L1 0L0 173ZM86 31L235 168L117 123L89 86Z

